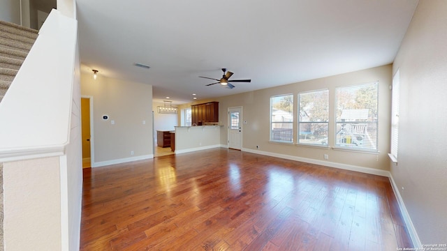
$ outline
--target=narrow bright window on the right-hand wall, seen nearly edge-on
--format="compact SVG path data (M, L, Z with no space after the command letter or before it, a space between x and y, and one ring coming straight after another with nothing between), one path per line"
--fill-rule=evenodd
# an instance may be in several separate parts
M393 77L393 93L391 102L391 154L393 162L397 162L397 146L399 140L399 91L400 91L400 73L397 70Z

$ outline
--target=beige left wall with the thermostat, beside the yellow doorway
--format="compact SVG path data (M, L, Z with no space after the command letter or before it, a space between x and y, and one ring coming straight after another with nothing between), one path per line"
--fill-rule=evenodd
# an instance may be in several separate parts
M101 74L94 80L92 73L82 73L81 93L93 97L92 167L151 157L151 85L111 79ZM102 119L104 114L109 116L108 121Z

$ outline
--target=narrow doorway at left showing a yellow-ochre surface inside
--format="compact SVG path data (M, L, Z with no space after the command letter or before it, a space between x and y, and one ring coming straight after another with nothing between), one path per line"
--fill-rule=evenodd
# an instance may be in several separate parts
M82 168L91 167L91 101L81 98Z

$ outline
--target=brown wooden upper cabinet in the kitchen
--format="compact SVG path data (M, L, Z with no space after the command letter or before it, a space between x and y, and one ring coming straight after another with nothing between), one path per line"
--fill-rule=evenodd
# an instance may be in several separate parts
M219 123L219 102L206 102L191 105L192 124L202 126L206 123Z

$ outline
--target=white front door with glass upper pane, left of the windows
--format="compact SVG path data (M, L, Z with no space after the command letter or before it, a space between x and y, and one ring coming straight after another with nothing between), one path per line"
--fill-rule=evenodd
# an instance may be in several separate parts
M228 148L242 149L242 107L228 108Z

